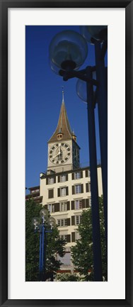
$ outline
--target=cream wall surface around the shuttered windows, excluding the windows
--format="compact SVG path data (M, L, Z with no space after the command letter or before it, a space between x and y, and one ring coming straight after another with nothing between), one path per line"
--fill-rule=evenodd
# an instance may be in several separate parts
M71 201L75 201L76 199L91 199L91 191L86 192L86 183L91 183L91 178L86 177L86 169L83 170L83 178L80 179L72 179L72 172L68 174L68 181L67 182L58 182L58 176L56 176L56 183L54 184L46 184L46 178L40 179L40 196L42 196L42 205L45 206L60 203L63 201L70 202L70 210L69 211L58 211L54 213L50 213L56 220L67 219L70 218L70 225L58 227L60 235L71 235L71 233L76 232L78 225L71 225L71 216L80 216L83 209L78 210L71 210ZM72 186L75 184L83 184L83 193L79 194L72 194ZM57 191L61 187L69 188L69 195L67 196L58 196ZM54 190L54 197L49 199L48 198L48 190ZM102 189L102 178L101 178L101 168L98 167L98 194L101 196L103 194ZM71 247L74 245L75 242L68 242L66 247Z

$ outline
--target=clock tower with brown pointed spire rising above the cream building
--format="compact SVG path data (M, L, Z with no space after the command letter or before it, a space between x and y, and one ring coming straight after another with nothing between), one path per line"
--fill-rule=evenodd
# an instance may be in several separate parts
M47 172L65 172L80 167L80 147L76 143L76 135L71 131L62 91L62 106L57 128L48 141Z

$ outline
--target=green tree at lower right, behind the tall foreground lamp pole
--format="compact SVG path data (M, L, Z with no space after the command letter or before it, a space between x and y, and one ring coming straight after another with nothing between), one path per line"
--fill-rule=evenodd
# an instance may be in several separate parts
M102 252L103 280L107 281L107 259L105 249L105 225L103 216L103 196L99 197L100 209L100 242ZM93 281L93 240L91 208L83 210L79 225L80 239L71 247L71 255L74 266L83 276L84 281Z

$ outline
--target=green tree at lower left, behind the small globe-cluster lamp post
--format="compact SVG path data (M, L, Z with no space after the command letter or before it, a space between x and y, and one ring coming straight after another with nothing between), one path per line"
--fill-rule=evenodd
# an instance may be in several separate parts
M25 202L25 280L39 280L39 250L40 234L35 233L32 225L33 217L40 216L41 204L33 199ZM57 253L64 256L65 241L60 239L59 230L53 228L52 233L47 233L46 267L45 272L57 272L62 262L56 259Z

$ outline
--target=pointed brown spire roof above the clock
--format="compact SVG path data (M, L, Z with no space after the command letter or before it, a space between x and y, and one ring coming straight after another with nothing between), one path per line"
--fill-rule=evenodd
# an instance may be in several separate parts
M57 128L54 131L52 137L48 142L57 142L57 134L62 133L62 140L70 140L73 136L71 132L71 127L69 124L69 119L67 117L67 111L64 105L64 91L62 91L62 106L59 113L59 120L57 123Z

